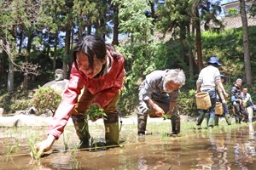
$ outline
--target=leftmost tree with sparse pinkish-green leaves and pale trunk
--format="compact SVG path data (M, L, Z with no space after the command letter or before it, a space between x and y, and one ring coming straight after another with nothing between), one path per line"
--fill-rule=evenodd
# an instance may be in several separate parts
M14 88L14 71L21 71L24 75L23 87L27 86L27 75L38 75L38 65L32 65L29 62L29 48L26 48L26 59L19 59L21 54L23 30L29 30L35 20L37 20L38 14L35 12L40 6L41 1L34 2L32 0L17 0L5 1L0 3L3 10L0 12L0 39L3 41L2 48L9 56L9 77L8 77L8 91L12 91ZM20 37L17 36L20 33ZM19 39L20 38L20 39ZM17 50L17 42L20 41L20 49ZM20 60L18 63L16 60Z

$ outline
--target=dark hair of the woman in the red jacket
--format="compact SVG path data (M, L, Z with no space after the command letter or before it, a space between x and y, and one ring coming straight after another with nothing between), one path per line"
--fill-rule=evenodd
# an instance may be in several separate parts
M88 56L89 66L93 67L93 57L96 56L97 59L103 60L108 52L113 56L113 59L117 61L119 59L119 52L111 44L106 44L102 37L96 35L90 35L82 38L73 49L73 62L78 69L78 64L76 62L77 52L82 51Z

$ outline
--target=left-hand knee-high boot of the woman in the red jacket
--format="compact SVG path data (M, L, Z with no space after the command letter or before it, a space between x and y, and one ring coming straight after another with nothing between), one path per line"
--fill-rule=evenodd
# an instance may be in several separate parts
M80 148L90 147L88 121L84 116L72 116L73 125L80 139Z

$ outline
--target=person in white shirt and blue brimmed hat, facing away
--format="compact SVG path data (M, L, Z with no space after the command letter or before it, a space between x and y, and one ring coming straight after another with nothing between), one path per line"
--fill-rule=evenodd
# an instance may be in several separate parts
M203 68L199 74L199 77L196 81L196 91L195 94L200 92L208 92L211 99L211 107L208 110L202 110L200 116L197 119L196 125L198 128L201 128L201 122L203 122L204 117L209 111L209 115L207 117L207 127L214 126L214 117L215 117L215 105L216 105L216 86L219 86L220 90L224 94L225 98L229 96L226 93L223 84L220 80L220 72L218 67L221 64L218 61L218 58L212 56L208 62L207 67ZM225 101L223 101L225 104Z

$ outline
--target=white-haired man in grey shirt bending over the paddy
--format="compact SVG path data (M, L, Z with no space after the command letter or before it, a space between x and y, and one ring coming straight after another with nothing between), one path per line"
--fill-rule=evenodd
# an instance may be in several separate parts
M186 77L180 69L153 71L139 87L139 107L137 114L138 135L145 135L147 118L171 115L172 133L180 133L180 116L177 110L179 88Z

